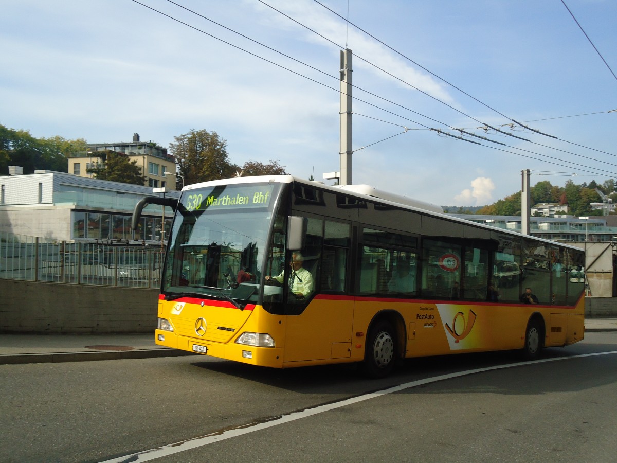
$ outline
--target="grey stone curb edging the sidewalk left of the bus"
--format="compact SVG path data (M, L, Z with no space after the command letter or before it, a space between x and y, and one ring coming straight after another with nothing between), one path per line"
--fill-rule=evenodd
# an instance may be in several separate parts
M96 360L152 359L155 357L196 356L178 349L146 349L138 351L54 352L52 354L1 354L0 365L86 362Z

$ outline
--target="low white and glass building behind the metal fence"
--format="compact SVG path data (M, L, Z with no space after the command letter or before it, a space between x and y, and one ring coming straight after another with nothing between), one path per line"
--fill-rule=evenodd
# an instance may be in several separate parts
M171 226L173 211L168 207L146 207L138 230L131 230L131 215L139 199L161 194L152 190L49 170L0 176L0 233L59 241L160 243ZM162 194L180 196L178 191Z

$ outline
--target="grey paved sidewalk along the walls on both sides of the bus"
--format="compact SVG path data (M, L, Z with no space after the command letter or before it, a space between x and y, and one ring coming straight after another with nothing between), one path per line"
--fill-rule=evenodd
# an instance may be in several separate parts
M617 331L617 319L586 319L585 332ZM0 365L195 355L158 346L154 333L133 335L0 335Z

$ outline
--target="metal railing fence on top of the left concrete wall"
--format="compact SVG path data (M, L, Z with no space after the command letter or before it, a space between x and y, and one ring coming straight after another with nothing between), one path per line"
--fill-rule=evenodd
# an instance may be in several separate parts
M157 288L160 246L72 243L0 232L0 278Z

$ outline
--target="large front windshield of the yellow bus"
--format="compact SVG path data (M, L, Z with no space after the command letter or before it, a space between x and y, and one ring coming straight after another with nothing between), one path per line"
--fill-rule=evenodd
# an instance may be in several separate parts
M257 302L279 183L218 185L184 191L173 221L162 291Z

